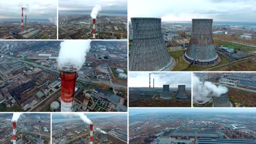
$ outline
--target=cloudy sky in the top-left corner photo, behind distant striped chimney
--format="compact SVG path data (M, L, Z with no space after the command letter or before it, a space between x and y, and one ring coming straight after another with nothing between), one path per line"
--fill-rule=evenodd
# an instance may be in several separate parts
M0 19L21 19L21 7L27 8L24 11L27 19L49 19L57 16L57 0L1 0Z

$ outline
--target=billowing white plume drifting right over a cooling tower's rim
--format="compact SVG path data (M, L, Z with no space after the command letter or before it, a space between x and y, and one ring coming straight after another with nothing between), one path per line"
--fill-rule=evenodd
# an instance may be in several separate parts
M193 74L193 102L206 101L211 95L219 97L221 94L227 93L228 88L224 86L216 86L212 82L200 81L199 77Z

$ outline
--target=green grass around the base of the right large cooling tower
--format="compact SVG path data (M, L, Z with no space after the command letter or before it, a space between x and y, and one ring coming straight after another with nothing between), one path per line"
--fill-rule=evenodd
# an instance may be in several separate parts
M189 63L184 61L183 53L184 53L184 50L170 52L171 57L173 57L176 60L176 65L172 69L173 71L181 71L181 70L184 70L185 68L188 68ZM198 66L194 65L193 67L190 67L189 69L187 69L187 71L201 71L201 70L216 67L218 65L229 63L229 60L226 59L224 56L219 55L219 57L220 57L221 61L216 65L212 65L209 67L198 67Z

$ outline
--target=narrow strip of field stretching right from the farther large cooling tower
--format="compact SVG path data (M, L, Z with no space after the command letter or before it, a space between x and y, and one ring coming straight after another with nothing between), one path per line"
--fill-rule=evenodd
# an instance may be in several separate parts
M246 46L246 45L241 45L241 44L234 44L234 43L230 43L230 42L226 42L226 41L221 41L221 40L214 40L214 44L216 45L223 45L225 47L228 46L234 46L235 50L240 50L240 51L254 51L256 50L256 47L252 47L252 46Z

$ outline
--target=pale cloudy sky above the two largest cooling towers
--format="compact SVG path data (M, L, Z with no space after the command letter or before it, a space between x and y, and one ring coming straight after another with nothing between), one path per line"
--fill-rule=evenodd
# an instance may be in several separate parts
M130 17L161 17L164 21L256 22L255 0L129 0Z

